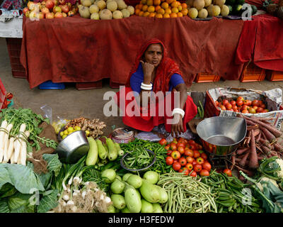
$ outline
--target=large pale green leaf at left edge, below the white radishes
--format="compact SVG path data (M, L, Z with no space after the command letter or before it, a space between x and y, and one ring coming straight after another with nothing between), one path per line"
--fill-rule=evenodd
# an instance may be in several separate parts
M28 166L1 163L0 172L0 189L4 184L10 183L23 194L33 193L34 189L45 191L40 178Z

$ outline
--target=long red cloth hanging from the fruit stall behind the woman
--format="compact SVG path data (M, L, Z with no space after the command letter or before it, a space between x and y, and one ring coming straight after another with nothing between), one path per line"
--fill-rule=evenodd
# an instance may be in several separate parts
M21 62L30 88L52 82L124 84L140 45L158 38L168 48L190 86L199 72L238 79L243 65L234 57L243 21L212 18L144 18L93 21L74 16L31 21L23 18Z

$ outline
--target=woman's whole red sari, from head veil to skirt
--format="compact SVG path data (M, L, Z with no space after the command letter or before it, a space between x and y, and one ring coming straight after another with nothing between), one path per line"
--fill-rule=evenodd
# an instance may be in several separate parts
M178 65L167 56L167 51L163 43L158 39L149 40L141 47L141 50L139 51L134 62L134 66L129 73L125 88L117 92L115 101L125 115L122 116L122 121L125 123L125 125L136 128L140 131L151 131L154 126L164 123L166 131L171 132L172 124L168 123L168 120L173 118L171 115L174 109L174 92L167 94L166 98L164 97L164 99L161 101L156 100L155 104L149 103L147 108L143 109L141 106L139 106L139 104L137 104L137 101L135 101L135 98L132 95L132 88L130 86L130 78L132 77L132 74L137 71L142 55L149 45L156 43L163 46L163 58L156 69L153 92L163 92L163 94L166 94L166 92L169 91L169 82L171 76L173 74L180 74L182 76L182 72L180 72ZM129 100L125 99L127 95L131 96ZM169 100L171 100L171 104L169 103ZM135 110L136 114L132 116L131 114L127 113L127 111L125 111L127 108L131 109L132 111ZM152 116L151 113L154 109L156 111L156 115ZM194 118L197 114L197 106L195 106L190 96L187 96L187 101L185 102L183 110L185 111L185 116L183 117L183 129L186 131L187 123L191 121L192 118ZM158 111L160 111L161 114Z

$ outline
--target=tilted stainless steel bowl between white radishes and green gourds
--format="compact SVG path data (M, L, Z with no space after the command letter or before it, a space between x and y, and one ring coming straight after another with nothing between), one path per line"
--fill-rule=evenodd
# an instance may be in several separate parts
M62 140L56 152L62 162L75 163L89 150L88 139L84 131L75 131Z

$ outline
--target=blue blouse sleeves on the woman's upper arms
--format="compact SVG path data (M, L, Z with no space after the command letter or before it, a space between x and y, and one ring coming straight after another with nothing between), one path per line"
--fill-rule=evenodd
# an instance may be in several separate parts
M144 72L142 70L141 63L139 63L139 67L137 68L137 71L132 74L132 77L129 82L134 92L137 93L141 92L141 82L144 82ZM176 87L178 84L185 84L185 82L180 74L175 73L172 75L170 79L168 92L171 92L172 89Z

